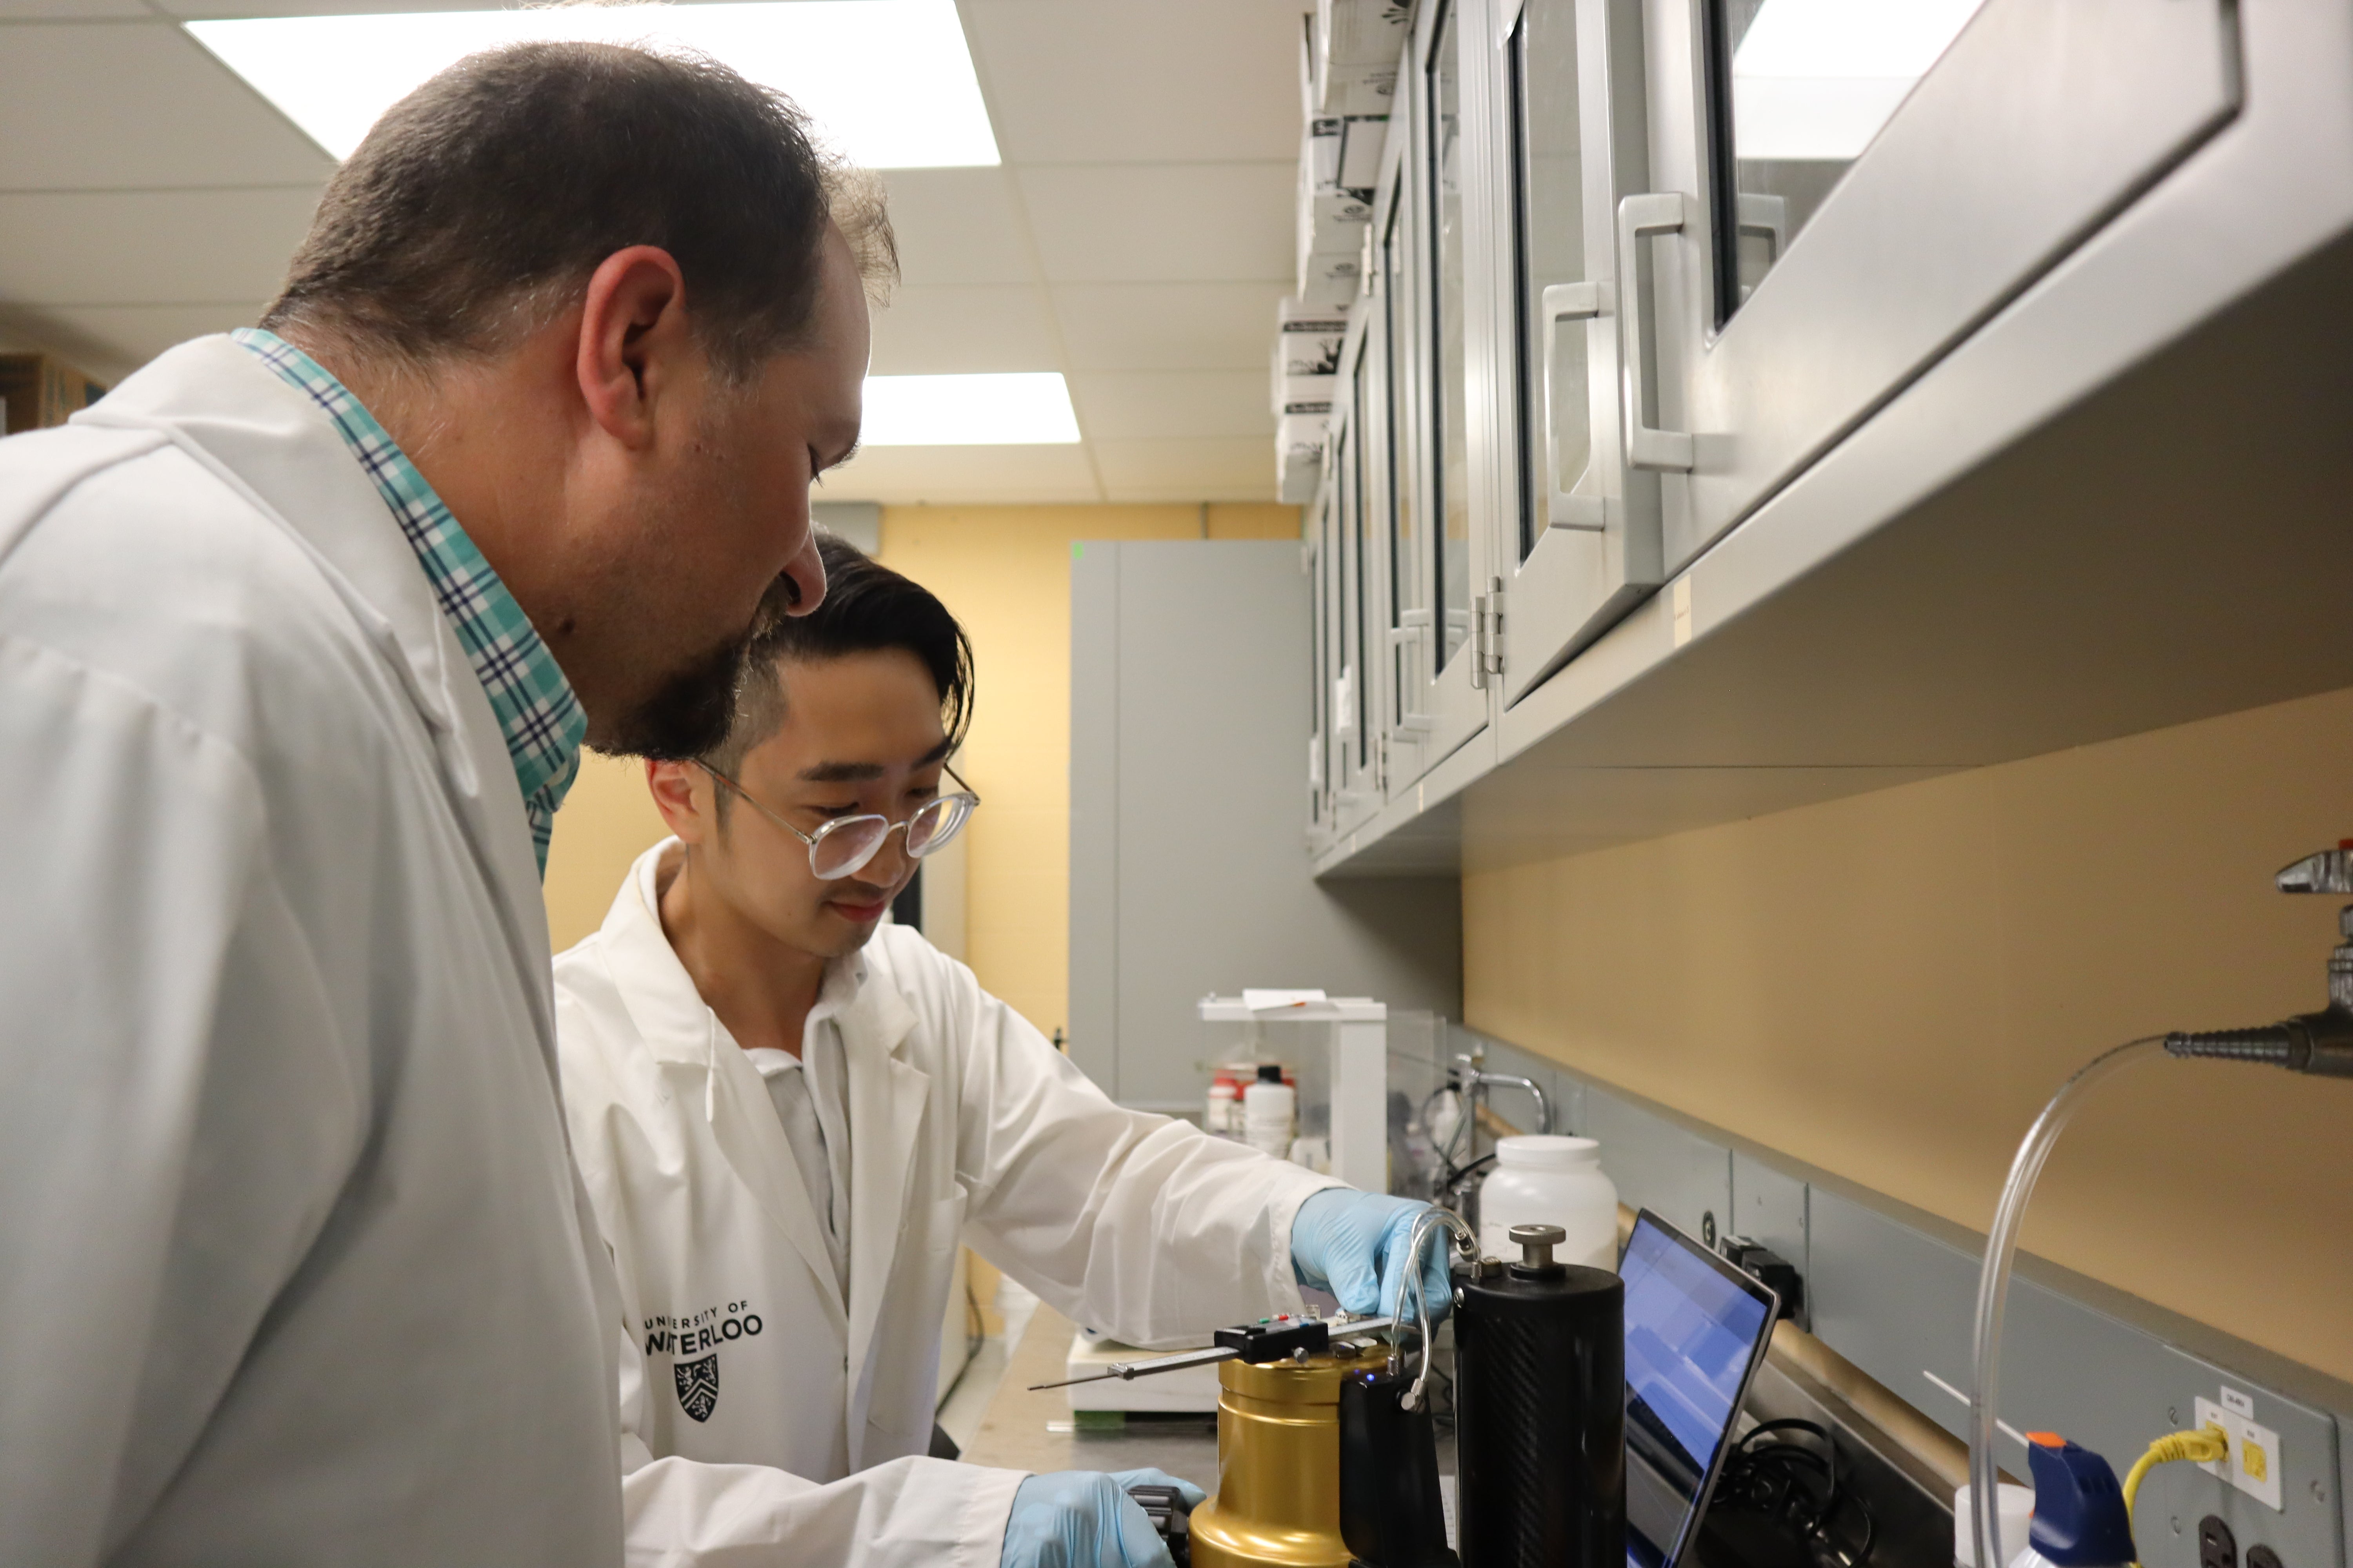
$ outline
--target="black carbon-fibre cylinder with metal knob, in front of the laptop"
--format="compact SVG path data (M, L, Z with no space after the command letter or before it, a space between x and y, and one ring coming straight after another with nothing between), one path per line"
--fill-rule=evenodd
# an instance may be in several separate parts
M1624 1568L1626 1286L1607 1269L1494 1260L1454 1284L1464 1568Z

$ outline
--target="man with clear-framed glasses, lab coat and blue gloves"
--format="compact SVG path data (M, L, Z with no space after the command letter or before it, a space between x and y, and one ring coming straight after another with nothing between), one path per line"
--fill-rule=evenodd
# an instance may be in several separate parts
M958 1246L1134 1345L1202 1342L1301 1281L1386 1305L1421 1204L1120 1110L885 922L979 806L948 771L969 651L927 590L819 550L828 597L755 642L734 733L647 764L678 837L555 959L631 1556L1165 1568L1115 1476L925 1458Z

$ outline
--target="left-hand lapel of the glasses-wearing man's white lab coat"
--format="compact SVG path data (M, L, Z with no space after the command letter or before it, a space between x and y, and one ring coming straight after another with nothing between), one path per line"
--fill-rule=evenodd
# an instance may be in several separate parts
M760 1213L784 1232L816 1276L816 1300L824 1302L833 1333L842 1335L847 1333L842 1286L833 1274L833 1255L826 1251L816 1206L800 1180L776 1105L767 1098L767 1084L744 1048L720 1030L711 1004L694 990L694 976L661 933L661 917L654 910L656 870L675 842L664 839L638 858L605 917L605 952L621 1006L628 1009L628 1020L652 1058L661 1063L664 1077L701 1100L720 1154L727 1157L736 1180L751 1187Z

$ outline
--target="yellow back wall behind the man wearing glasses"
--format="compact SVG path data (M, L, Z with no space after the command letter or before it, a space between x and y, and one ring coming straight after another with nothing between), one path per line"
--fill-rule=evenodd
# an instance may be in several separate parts
M1071 952L1071 545L1087 538L1297 538L1289 505L892 505L882 562L965 623L979 708L958 771L986 802L965 832L967 959L1040 1030L1066 1020ZM591 757L555 818L555 950L605 919L661 837L635 762Z

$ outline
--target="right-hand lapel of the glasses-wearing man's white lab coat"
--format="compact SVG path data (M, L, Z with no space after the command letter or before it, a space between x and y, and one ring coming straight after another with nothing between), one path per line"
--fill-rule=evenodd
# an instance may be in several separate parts
M849 1465L861 1467L873 1401L875 1321L906 1229L908 1166L932 1077L899 1058L915 1013L873 964L840 1013L849 1070Z

